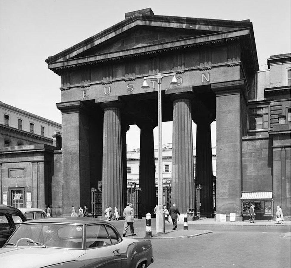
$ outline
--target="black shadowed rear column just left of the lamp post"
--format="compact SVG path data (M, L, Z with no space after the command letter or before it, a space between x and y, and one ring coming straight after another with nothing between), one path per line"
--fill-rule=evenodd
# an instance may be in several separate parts
M156 203L156 178L154 162L154 124L141 123L140 128L140 189L142 190L142 213L152 213Z

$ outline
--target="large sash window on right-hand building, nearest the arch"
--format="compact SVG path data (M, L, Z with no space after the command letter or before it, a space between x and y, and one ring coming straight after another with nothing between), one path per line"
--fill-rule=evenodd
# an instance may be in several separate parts
M250 110L250 130L266 129L269 127L269 108L256 107Z

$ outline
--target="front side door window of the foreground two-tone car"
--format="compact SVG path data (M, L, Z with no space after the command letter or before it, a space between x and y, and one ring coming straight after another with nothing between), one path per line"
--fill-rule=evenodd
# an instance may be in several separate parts
M86 227L86 248L103 247L111 244L111 239L104 225Z

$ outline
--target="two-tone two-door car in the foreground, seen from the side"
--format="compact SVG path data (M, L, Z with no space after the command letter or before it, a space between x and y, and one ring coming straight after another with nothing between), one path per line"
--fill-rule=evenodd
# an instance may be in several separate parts
M148 267L151 242L122 238L110 223L87 217L21 223L0 249L1 267Z

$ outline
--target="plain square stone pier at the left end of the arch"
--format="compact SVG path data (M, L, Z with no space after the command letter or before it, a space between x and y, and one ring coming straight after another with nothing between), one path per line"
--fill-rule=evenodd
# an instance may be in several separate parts
M62 112L63 214L90 204L89 119L81 101L57 103ZM54 193L52 193L54 200Z

